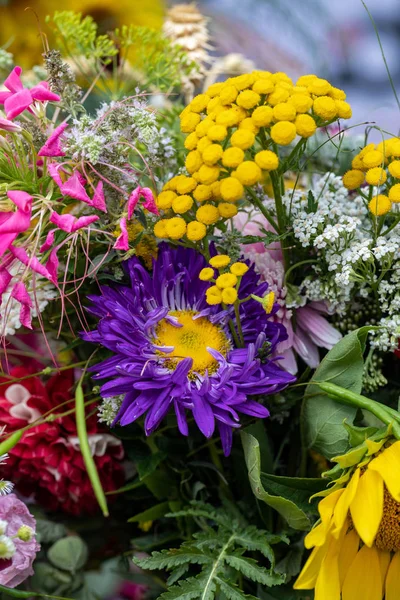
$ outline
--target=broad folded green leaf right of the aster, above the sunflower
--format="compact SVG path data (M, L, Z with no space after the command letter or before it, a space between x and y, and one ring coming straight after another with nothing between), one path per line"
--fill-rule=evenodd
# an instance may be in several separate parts
M348 449L348 434L343 421L352 424L357 409L335 402L313 382L328 381L360 393L363 354L371 329L374 328L361 327L342 338L322 360L306 389L302 411L305 443L328 459Z

